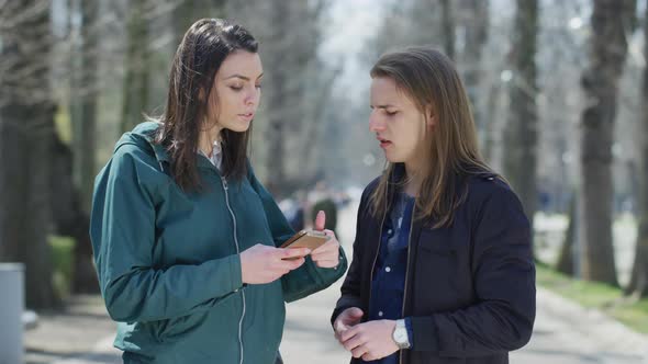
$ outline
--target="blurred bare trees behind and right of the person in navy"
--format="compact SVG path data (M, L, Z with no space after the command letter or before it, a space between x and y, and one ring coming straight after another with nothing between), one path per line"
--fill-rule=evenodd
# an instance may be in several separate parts
M646 14L637 16L636 0L569 4L517 0L512 21L503 25L493 13L505 13L512 2L399 2L389 12L368 58L404 44L433 44L454 58L463 73L473 104L482 152L511 182L528 216L533 218L537 211L543 181L558 184L563 195L571 196L574 208L570 230L578 234L568 234L559 268L584 280L618 286L612 237L614 174L618 172L613 150L619 135L615 120L619 115L619 84L628 43L641 30L639 23L644 24L646 36L648 18ZM588 12L591 14L590 26L581 24ZM565 14L571 18L565 18ZM548 21L551 19L556 21ZM581 32L583 29L586 31ZM504 39L506 46L502 47ZM639 64L645 65L644 59ZM630 71L636 72L638 67L634 68ZM625 99L622 100L626 105L627 99L646 98L647 68L643 68L644 88L630 82L632 89L624 90ZM577 92L582 99L570 103ZM628 93L636 95L628 98ZM573 124L578 127L571 128L566 123L570 115L576 115ZM645 109L634 113L626 111L623 116L629 118L623 127L628 123L644 123L639 130L643 134L648 132ZM549 146L540 145L541 134L546 135L545 139L555 141ZM573 146L572 140L579 139L580 144ZM640 178L637 175L640 183L634 191L640 192L641 197L636 207L639 223L636 258L626 291L646 296L647 144L645 140L625 140L641 146L643 156L635 159L644 161L641 168L634 169L640 173ZM579 156L579 160L572 162L578 168L572 168L576 173L571 171L571 177L570 171L563 170L569 168L565 166L566 159L571 158L569 149ZM562 159L562 163L547 169L546 166L551 166L547 161L550 158ZM554 192L554 196L559 194Z

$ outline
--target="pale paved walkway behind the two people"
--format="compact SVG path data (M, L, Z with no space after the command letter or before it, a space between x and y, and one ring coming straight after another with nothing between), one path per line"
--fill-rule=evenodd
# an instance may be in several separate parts
M340 212L339 239L350 253L355 229L351 206ZM339 283L298 303L289 304L281 353L287 364L348 363L349 355L333 338L328 317ZM648 338L597 311L585 310L545 289L538 289L537 318L528 345L511 354L525 364L648 364ZM25 335L27 363L120 363L111 348L114 325L97 297L85 297L66 315L45 316ZM1 361L0 361L1 362ZM250 363L253 364L253 363Z

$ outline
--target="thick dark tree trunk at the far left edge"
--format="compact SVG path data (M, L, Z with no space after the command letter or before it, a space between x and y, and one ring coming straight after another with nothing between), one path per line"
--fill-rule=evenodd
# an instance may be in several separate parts
M31 308L57 306L52 284L49 145L49 4L12 1L0 7L0 260L25 264Z

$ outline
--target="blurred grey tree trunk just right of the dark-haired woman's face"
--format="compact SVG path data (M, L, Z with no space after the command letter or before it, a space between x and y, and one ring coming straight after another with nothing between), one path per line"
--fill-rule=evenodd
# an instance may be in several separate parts
M322 2L288 2L279 1L271 7L271 26L273 30L267 41L261 41L264 49L272 49L266 54L269 61L266 69L271 69L271 78L267 83L272 84L267 109L267 171L268 190L281 197L293 192L291 185L308 173L308 169L300 168L298 174L291 173L290 161L304 164L302 149L303 138L313 139L315 135L304 135L308 125L317 123L313 109L309 103L309 95L313 91L310 84L323 87L320 78L309 73L312 61L316 58L316 45L320 33L316 29L317 15ZM294 32L299 29L300 32ZM269 56L269 57L268 57ZM319 90L319 89L316 89ZM320 99L315 102L324 102ZM316 109L316 107L315 107ZM311 145L313 147L313 145Z

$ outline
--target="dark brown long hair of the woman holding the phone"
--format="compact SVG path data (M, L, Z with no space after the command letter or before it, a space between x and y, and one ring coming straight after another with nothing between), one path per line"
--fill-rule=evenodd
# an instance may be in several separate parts
M238 49L258 50L247 30L221 19L201 19L189 27L174 57L167 104L159 118L163 126L155 139L168 151L171 175L185 191L201 190L197 151L200 132L208 127L204 116L214 77L223 60ZM244 133L221 130L226 178L241 180L246 175L250 134L252 125Z

